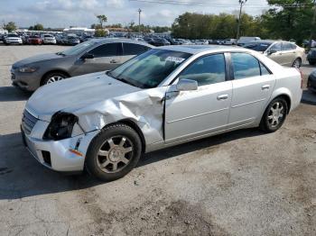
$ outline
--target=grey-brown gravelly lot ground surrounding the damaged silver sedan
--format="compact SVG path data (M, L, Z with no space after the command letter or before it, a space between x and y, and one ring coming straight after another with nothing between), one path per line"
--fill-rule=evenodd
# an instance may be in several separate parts
M301 104L279 132L148 154L111 183L43 168L23 148L29 95L9 69L61 49L0 46L0 235L316 235L316 105Z

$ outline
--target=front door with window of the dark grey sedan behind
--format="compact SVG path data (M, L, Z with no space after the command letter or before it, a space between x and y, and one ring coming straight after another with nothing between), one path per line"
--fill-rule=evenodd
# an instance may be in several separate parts
M109 70L122 64L122 43L106 43L87 53L92 54L94 58L78 59L75 63L75 75Z

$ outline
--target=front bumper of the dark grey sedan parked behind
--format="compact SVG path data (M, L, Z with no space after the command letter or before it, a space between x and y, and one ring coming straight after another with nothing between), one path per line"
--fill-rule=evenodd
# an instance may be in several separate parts
M33 92L41 85L42 73L37 70L33 73L21 73L18 68L11 68L11 81L25 91Z

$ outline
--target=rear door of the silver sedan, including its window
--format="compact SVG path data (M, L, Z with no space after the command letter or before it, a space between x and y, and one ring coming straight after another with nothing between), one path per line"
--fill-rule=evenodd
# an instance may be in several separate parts
M275 85L274 75L254 56L231 53L233 97L229 127L253 123L265 109Z

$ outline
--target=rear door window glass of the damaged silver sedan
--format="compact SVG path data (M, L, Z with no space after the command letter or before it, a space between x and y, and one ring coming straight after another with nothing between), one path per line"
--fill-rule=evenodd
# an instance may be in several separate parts
M259 61L246 53L231 53L235 79L260 76Z

